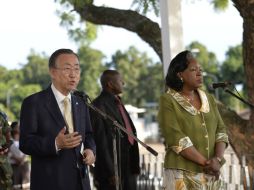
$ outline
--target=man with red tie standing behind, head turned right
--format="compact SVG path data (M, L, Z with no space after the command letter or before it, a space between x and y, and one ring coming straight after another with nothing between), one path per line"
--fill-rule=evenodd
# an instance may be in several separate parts
M101 76L102 92L93 101L93 105L114 118L127 131L136 135L133 122L118 96L123 91L123 85L124 82L119 72L116 70L104 71ZM110 120L103 119L94 111L90 113L97 149L94 168L97 189L114 190L118 181L119 186L122 187L119 189L135 190L137 175L140 172L138 143L125 133L116 130ZM114 135L117 142L118 177L114 169Z

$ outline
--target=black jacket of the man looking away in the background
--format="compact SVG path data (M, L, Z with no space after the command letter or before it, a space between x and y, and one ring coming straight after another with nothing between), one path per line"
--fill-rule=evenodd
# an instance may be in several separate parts
M117 102L113 94L102 91L101 94L93 101L93 105L101 109L109 116L114 118L119 124L124 126L121 114L117 107ZM125 110L127 113L127 111ZM95 179L99 183L108 183L110 177L115 175L114 161L113 161L113 143L112 134L114 134L114 126L110 120L105 120L103 117L95 113L90 112L91 121L96 142L96 162L95 162ZM136 129L134 127L131 118L128 118L131 123L132 131L136 135ZM117 141L119 135L116 136ZM134 145L131 145L128 141L128 137L124 132L120 135L120 151L118 151L118 164L121 163L122 179L128 177L130 174L139 174L139 150L138 144L135 141Z

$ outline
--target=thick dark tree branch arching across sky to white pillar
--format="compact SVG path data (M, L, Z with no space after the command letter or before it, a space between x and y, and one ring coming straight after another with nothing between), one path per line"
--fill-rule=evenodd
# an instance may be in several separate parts
M75 10L81 18L94 24L125 28L147 42L162 60L161 29L158 23L132 10L85 5Z

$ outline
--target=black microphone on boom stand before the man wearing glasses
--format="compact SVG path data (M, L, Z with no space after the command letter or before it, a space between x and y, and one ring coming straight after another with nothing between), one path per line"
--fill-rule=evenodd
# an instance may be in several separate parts
M135 135L133 135L133 133L127 131L127 129L125 127L123 127L121 124L119 124L113 117L111 117L110 115L106 114L105 112L103 112L102 110L100 110L99 108L95 107L92 103L91 100L89 98L88 95L86 95L84 92L79 92L79 91L74 91L73 93L76 96L79 96L84 103L91 108L92 110L94 110L96 113L98 113L99 115L101 115L104 119L108 119L112 122L112 124L116 127L115 130L118 131L119 136L120 131L123 131L124 133L126 133L127 135L130 135L133 139L135 139L135 141L137 141L138 143L140 143L143 147L145 147L150 153L152 153L154 156L158 155L158 152L156 152L154 149L152 149L150 146L148 146L147 144L145 144L144 142L142 142L141 140L139 140ZM90 101L90 103L88 103L87 99ZM119 138L120 139L120 138ZM120 186L120 178L119 178L119 173L118 173L118 163L117 163L117 148L116 148L116 135L113 134L113 152L114 152L114 170L115 170L115 175L116 175L116 190L119 190L119 187L122 189L122 187ZM121 172L120 172L121 175Z

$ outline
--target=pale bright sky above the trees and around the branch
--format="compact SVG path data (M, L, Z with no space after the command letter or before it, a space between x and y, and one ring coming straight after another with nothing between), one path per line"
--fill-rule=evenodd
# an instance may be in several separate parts
M130 8L130 0L96 0L107 6ZM56 15L59 5L54 0L8 0L0 6L0 65L7 69L19 69L27 63L27 56L33 49L37 53L50 55L58 48L77 50L67 31L59 25ZM150 16L160 24L160 18ZM183 42L204 44L214 52L220 61L230 46L242 42L242 18L230 4L225 12L215 12L208 0L182 0ZM117 50L125 51L135 46L147 52L154 61L159 61L152 48L136 34L124 29L104 26L99 29L98 38L92 47L101 50L108 58Z

